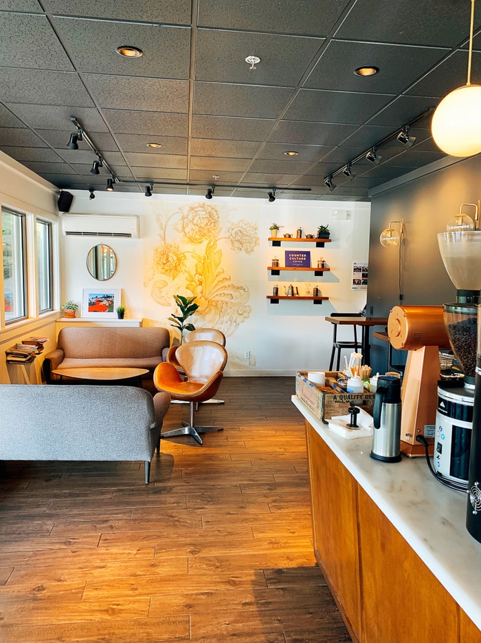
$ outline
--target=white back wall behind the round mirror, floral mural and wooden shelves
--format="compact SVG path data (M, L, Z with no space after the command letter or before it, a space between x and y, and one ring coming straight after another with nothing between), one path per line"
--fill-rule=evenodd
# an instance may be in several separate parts
M332 326L324 316L337 312L356 312L366 303L366 291L352 288L353 261L367 262L370 228L370 204L359 202L322 202L281 200L269 203L266 200L239 198L216 198L208 201L199 197L160 196L145 198L133 193L96 193L89 200L89 193L73 191L75 198L71 213L136 214L140 218L139 239L117 238L61 238L62 301L82 300L83 288L109 286L122 288L128 317L141 317L144 325L170 327L169 315L175 312L174 294L190 295L187 290L186 270L196 273L195 264L205 256L205 241L200 244L188 242L181 229L181 220L191 220L194 204L199 204L197 214L206 207L214 208L211 215L216 220L216 250L221 251L221 270L229 281L217 288L217 295L210 292L209 305L203 297L198 301L203 309L202 317L194 317L194 324L216 326L224 330L230 355L227 375L293 375L299 369L327 368L331 353ZM190 214L187 214L190 209ZM348 211L346 220L333 220L331 211ZM168 222L167 222L168 221ZM267 241L269 226L278 222L284 228L280 233L295 235L300 226L304 233L313 233L319 224L329 224L333 242L324 249L315 249L311 244L297 246L282 244L273 248ZM159 222L166 224L165 235ZM166 223L167 222L167 223ZM258 238L252 252L234 251L231 248L232 226L245 226L246 237ZM205 235L212 234L208 229ZM118 257L118 271L109 282L96 282L89 275L86 257L89 249L98 242L109 244ZM183 271L172 275L153 273L152 260L155 249L166 244L177 244L177 257L184 253ZM165 248L165 246L164 246ZM312 264L322 255L331 273L314 277L313 273L281 272L280 277L271 277L267 266L274 255L284 265L285 249L310 249ZM249 248L250 250L250 248ZM199 255L197 260L194 254ZM285 280L285 281L284 281ZM270 304L266 295L272 293L274 284L280 291L292 283L300 294L307 284L317 284L322 294L330 297L322 306L310 301L283 301ZM238 288L248 288L247 306L251 310L246 319L236 325L232 310L227 310L229 297L236 297ZM155 293L155 298L153 298ZM157 301L155 300L157 299ZM214 308L210 306L214 302ZM221 307L223 304L223 307ZM218 308L216 308L218 306ZM219 313L219 310L221 312ZM170 329L172 330L172 329ZM347 330L347 329L343 329ZM175 335L175 333L172 333ZM250 359L245 360L245 352Z

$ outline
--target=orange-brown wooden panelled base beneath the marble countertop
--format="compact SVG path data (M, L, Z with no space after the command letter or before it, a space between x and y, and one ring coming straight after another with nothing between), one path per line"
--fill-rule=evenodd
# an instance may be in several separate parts
M356 643L479 643L480 630L306 421L314 550ZM473 591L477 591L473 588Z

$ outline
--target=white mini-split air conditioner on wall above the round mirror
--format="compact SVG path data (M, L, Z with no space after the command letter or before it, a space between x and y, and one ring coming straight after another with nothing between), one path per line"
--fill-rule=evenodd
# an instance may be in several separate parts
M125 237L139 236L137 216L64 214L62 217L64 235L77 237Z

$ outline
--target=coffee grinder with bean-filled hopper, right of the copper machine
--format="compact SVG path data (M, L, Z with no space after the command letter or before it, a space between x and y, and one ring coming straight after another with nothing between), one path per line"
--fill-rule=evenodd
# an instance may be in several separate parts
M440 233L438 244L446 271L456 286L456 303L443 306L446 332L465 377L439 383L434 470L441 482L465 491L468 487L475 397L481 231Z

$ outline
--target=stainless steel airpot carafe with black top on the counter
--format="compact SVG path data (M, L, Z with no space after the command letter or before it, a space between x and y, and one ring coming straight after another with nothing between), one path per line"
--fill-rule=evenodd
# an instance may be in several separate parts
M401 380L380 375L374 396L374 430L371 458L383 462L401 460Z

